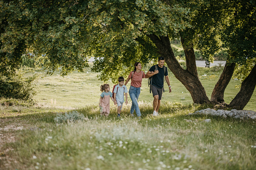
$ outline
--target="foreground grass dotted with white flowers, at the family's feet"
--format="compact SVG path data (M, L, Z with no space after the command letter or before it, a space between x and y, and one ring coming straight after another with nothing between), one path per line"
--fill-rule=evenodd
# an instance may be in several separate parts
M114 109L101 117L96 106L77 109L86 119L55 124L54 112L36 114L32 127L13 131L15 142L6 144L0 168L7 169L253 169L256 133L253 120L188 115L208 106L163 103L153 117L143 103L142 119L121 119ZM32 108L31 108L32 109ZM48 117L44 119L43 117ZM184 120L185 119L185 120ZM187 119L191 121L186 121ZM211 119L207 123L204 119ZM6 151L13 148L13 150ZM8 157L12 162L7 166Z

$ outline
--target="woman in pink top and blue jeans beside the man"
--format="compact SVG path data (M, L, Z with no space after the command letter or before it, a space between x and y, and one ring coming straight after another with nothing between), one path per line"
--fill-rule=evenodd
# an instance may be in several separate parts
M133 116L133 112L135 110L139 119L140 119L141 113L139 110L139 105L137 100L140 94L142 79L146 77L145 73L141 69L142 69L141 64L139 62L135 63L134 70L130 72L127 80L124 83L124 85L126 85L131 79L131 86L129 89L129 95L132 100L131 115Z

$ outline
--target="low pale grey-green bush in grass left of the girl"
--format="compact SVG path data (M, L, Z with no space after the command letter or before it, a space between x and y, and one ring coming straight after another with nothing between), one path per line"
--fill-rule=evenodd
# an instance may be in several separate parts
M75 122L77 120L84 120L85 117L83 114L78 113L77 111L72 111L70 113L65 112L65 114L58 113L54 118L56 123L66 123L66 122Z

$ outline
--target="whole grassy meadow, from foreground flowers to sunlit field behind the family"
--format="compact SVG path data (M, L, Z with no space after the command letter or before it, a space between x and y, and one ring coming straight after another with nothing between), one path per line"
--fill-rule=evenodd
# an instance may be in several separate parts
M198 68L208 96L218 70ZM153 97L143 80L140 120L129 116L129 97L121 118L113 103L110 116L101 117L103 82L89 69L39 79L34 96L38 104L8 105L1 99L0 169L255 169L255 120L188 115L212 106L192 104L185 87L172 74L169 77L173 92L164 93L157 117L152 116ZM231 80L224 96L227 103L239 91L234 88L238 84ZM255 95L246 110L256 111ZM73 111L84 118L55 122L57 115Z

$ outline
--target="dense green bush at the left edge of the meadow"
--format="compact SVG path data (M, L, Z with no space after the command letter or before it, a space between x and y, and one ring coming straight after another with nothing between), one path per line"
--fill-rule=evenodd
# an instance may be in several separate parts
M24 77L24 74L24 70L20 69L13 76L0 77L0 97L32 100L36 94L35 80L38 78L38 74L31 77Z

